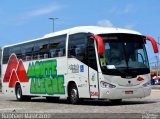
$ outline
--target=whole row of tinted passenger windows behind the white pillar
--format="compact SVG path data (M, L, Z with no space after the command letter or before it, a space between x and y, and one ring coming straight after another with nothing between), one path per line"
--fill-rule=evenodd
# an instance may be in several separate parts
M12 53L23 61L65 56L66 36L65 34L4 48L3 64L8 62Z

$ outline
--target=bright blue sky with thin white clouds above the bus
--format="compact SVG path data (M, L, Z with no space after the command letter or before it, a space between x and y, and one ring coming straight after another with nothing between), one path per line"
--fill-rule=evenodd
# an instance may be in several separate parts
M119 27L158 42L159 12L160 0L1 0L0 47L51 33L51 17L58 18L55 31L76 26ZM153 53L151 43L146 48L152 65L158 54Z

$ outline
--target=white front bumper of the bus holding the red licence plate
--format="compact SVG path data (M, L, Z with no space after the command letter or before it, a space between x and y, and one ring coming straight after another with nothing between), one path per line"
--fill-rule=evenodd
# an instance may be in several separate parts
M139 88L101 88L101 99L143 98L149 96L151 87Z

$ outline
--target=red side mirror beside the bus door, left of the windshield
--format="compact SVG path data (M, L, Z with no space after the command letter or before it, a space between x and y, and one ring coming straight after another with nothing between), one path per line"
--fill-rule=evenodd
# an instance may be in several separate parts
M103 54L104 53L103 39L100 36L96 36L96 35L93 35L90 38L97 41L98 54Z

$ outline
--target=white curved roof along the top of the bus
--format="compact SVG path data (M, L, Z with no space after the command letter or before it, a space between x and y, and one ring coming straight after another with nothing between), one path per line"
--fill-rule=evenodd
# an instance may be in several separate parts
M3 48L14 46L14 45L19 45L19 44L23 44L23 43L28 43L28 42L38 41L40 39L54 37L54 36L58 36L58 35L63 35L63 34L68 34L68 33L69 34L74 34L74 33L82 33L82 32L83 33L92 33L92 34L95 34L95 35L97 35L97 34L108 34L108 33L128 33L128 34L141 35L141 33L137 32L137 31L122 29L122 28L100 27L100 26L79 26L79 27L73 27L73 28L70 28L70 29L62 30L62 31L49 33L49 34L44 35L43 37L36 38L36 39L33 39L33 40L24 41L24 42L12 44L12 45L7 45L7 46L4 46Z

